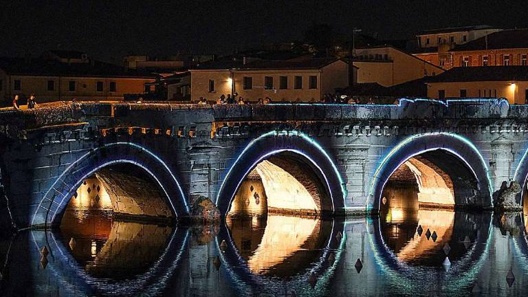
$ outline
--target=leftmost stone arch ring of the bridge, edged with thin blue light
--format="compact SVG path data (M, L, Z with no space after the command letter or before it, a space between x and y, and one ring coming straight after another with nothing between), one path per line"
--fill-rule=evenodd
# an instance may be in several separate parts
M32 225L60 223L69 199L83 181L101 168L114 164L133 164L142 168L163 191L167 205L175 216L189 214L179 181L160 157L139 144L114 142L91 149L57 177L34 210Z

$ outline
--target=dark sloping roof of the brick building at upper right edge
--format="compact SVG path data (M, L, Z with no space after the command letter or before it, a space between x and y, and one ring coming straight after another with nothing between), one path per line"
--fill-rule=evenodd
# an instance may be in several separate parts
M503 30L456 45L451 52L528 48L528 29Z

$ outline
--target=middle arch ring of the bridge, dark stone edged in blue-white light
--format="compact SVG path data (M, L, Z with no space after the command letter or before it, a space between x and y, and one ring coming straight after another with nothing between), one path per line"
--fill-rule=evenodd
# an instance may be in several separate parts
M241 183L257 164L270 157L296 159L313 171L327 190L326 199L320 200L322 214L344 213L346 190L340 172L329 154L320 144L298 131L271 131L250 142L234 161L217 195L217 206L225 217Z

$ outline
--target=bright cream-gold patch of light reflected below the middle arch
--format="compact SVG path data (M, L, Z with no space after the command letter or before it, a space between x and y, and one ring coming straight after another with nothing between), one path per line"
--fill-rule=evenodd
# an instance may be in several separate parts
M274 265L283 263L288 256L302 250L316 226L317 219L269 214L261 243L248 260L250 270L265 274Z

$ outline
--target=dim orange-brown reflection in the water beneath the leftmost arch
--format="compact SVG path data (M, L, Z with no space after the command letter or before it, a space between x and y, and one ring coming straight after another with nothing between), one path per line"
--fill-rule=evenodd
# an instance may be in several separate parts
M67 211L60 237L74 259L95 278L114 281L142 274L166 249L173 228L113 221L101 213Z

